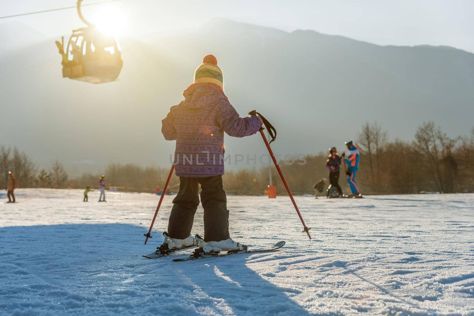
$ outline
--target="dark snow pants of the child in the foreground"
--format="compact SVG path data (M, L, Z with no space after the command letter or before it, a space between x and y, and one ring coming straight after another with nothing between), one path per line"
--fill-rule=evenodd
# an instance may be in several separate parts
M204 240L220 241L229 236L229 211L227 197L222 186L222 176L205 178L180 177L178 195L173 199L168 222L168 234L172 238L185 239L191 235L194 214L199 205L199 184L204 209Z

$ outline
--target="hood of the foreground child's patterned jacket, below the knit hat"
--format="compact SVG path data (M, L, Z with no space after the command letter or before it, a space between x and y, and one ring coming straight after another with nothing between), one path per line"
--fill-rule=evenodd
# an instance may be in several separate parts
M202 108L220 99L228 101L224 91L212 84L193 83L182 93L184 105L189 108Z

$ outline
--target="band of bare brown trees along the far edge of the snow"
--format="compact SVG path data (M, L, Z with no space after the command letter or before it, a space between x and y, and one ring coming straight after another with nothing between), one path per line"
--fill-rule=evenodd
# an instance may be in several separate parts
M394 193L465 193L474 192L474 127L469 135L456 138L433 122L418 127L412 141L392 140L377 123L365 123L360 129L356 146L360 151L360 166L356 176L363 194ZM342 153L346 148L337 148ZM296 194L313 193L312 186L328 177L325 167L327 154L307 155L305 165L279 165L291 190ZM342 167L343 168L343 167ZM0 147L0 174L6 186L8 171L17 179L18 187L42 188L97 188L100 174L84 173L70 178L60 161L49 169L38 170L26 153L17 148ZM286 194L283 184L272 166L273 185L277 193ZM118 191L154 193L163 189L169 168L140 167L137 164L110 163L104 174L107 184ZM264 194L269 178L269 167L226 171L224 189L235 194ZM349 192L341 170L339 180L343 191ZM179 178L173 175L171 191L177 192Z

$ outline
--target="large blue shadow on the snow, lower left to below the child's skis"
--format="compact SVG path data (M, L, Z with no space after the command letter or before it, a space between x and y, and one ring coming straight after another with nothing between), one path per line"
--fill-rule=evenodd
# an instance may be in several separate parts
M18 293L11 304L0 304L0 315L13 313L18 302L36 306L38 300L44 305L33 312L51 314L66 300L99 308L98 314L119 306L125 314L145 308L153 315L308 315L290 298L300 291L264 280L246 266L250 255L145 259L141 255L155 250L160 238L143 246L144 231L127 224L0 227L0 271L9 275L2 290Z

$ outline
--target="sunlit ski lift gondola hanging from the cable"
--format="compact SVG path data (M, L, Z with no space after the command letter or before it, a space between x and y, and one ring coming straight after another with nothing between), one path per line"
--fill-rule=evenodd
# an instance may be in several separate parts
M87 27L73 30L66 47L64 36L61 43L56 41L63 56L63 78L91 83L114 81L122 70L120 47L113 36L101 33L82 16L81 2L77 1L77 13Z

